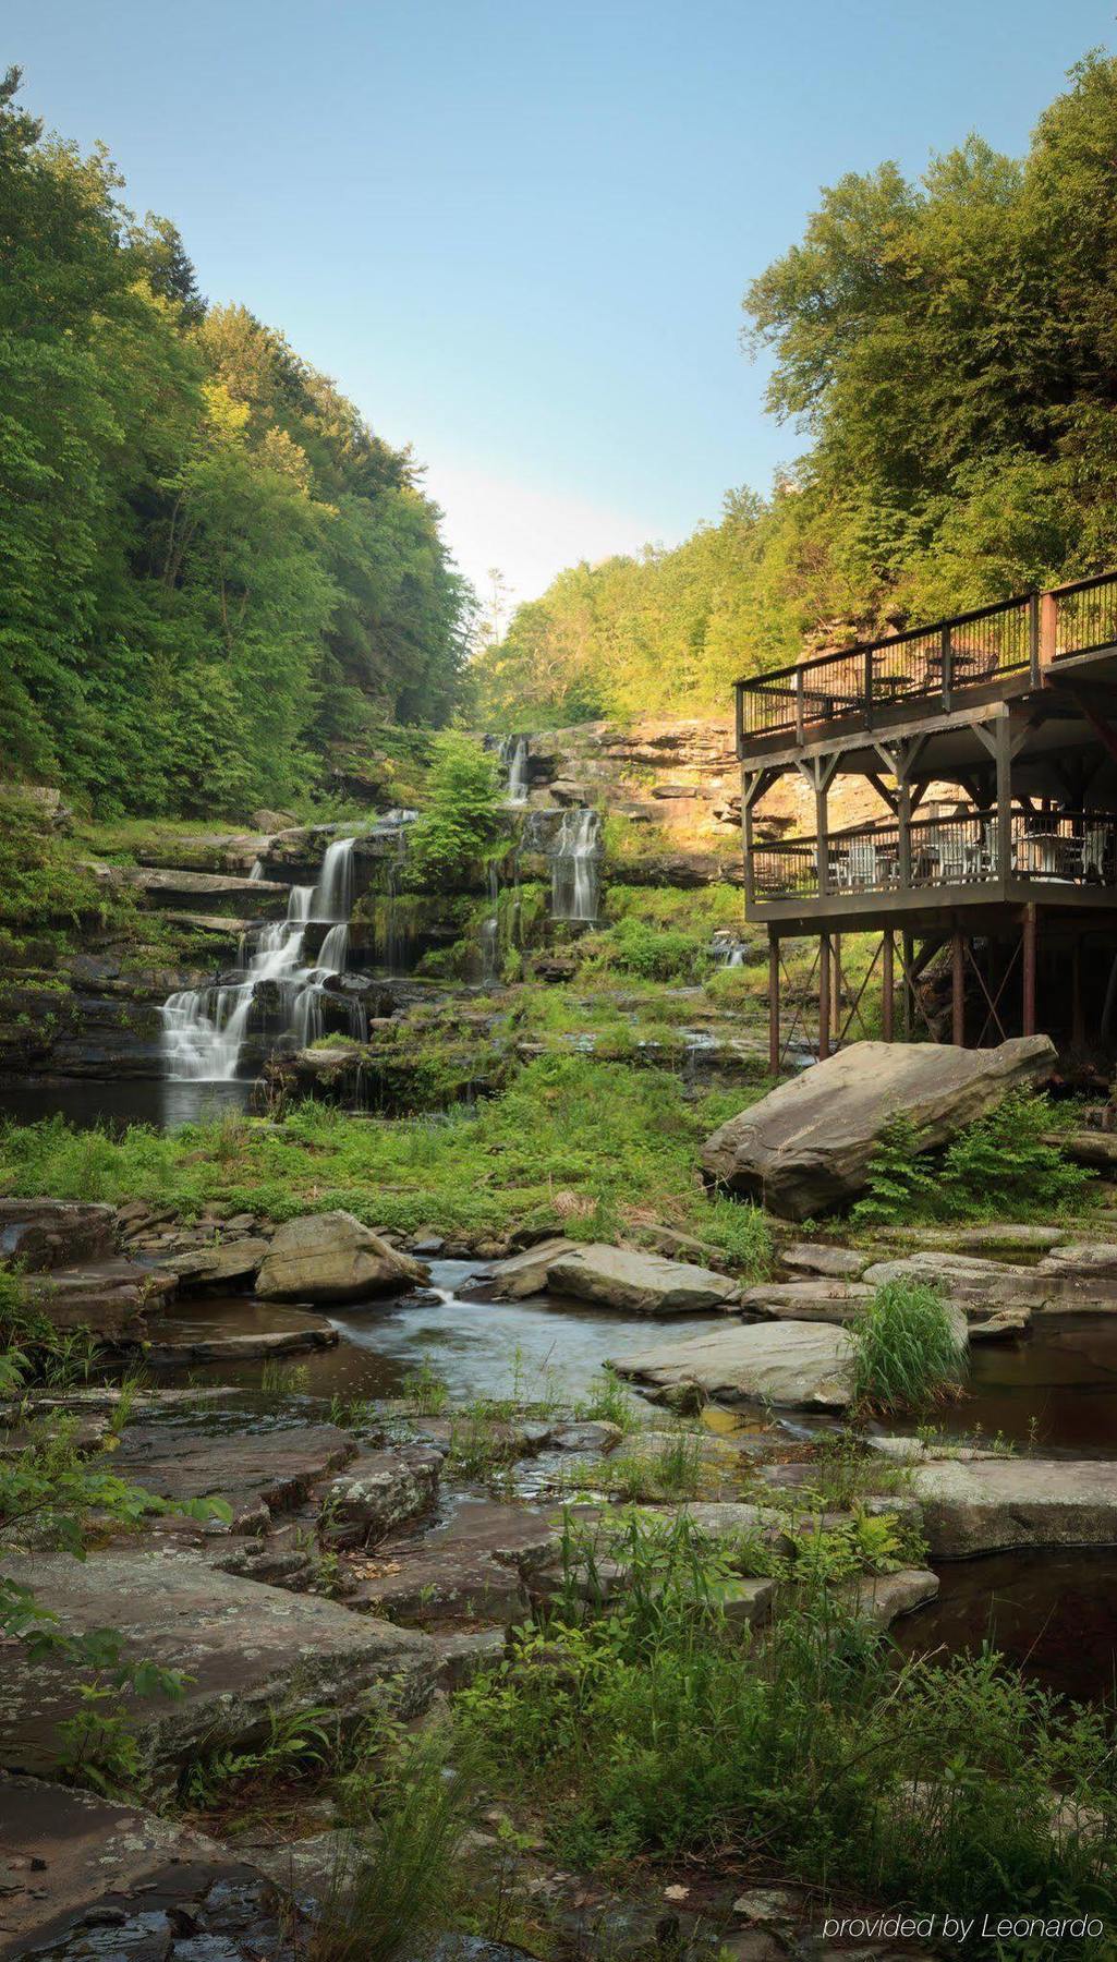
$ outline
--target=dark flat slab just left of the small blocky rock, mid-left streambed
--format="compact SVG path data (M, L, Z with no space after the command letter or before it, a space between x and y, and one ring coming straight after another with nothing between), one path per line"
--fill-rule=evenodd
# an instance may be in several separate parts
M312 1485L355 1456L336 1424L214 1428L130 1424L114 1470L161 1499L228 1499L234 1530L263 1530L271 1513L302 1505Z

